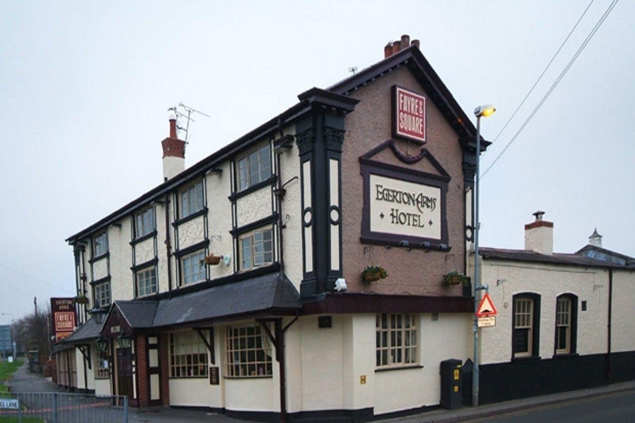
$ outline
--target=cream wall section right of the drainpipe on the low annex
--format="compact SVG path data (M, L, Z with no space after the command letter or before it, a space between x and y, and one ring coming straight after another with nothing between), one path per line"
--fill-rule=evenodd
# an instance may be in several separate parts
M611 352L635 351L633 299L635 299L635 272L613 271Z

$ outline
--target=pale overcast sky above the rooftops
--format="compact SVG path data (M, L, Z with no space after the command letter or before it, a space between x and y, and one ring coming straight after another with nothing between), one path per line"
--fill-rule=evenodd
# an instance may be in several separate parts
M0 312L74 295L64 239L161 182L171 105L211 116L192 126L189 166L410 34L469 116L497 106L483 121L492 139L588 3L0 2ZM484 168L608 4L594 1ZM558 252L598 227L606 248L635 255L634 18L620 1L483 178L483 245L523 248L542 209Z

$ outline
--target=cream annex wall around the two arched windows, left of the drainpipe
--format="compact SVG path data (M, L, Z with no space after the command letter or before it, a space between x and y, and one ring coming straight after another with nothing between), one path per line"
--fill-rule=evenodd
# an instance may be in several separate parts
M554 356L556 298L563 293L578 297L578 354L606 352L608 271L503 260L481 260L481 263L481 283L490 286L490 297L498 311L496 326L481 329L481 364L511 360L512 299L521 292L540 294L541 358ZM587 311L582 311L582 301L587 302Z

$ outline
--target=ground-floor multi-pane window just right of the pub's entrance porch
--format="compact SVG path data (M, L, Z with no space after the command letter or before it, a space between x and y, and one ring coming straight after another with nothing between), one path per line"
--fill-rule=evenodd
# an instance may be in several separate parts
M193 330L170 333L170 377L207 377L208 354Z

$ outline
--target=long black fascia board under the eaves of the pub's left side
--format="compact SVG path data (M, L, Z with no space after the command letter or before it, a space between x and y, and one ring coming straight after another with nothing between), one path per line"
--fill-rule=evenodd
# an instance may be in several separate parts
M69 236L69 238L65 239L65 241L70 245L74 245L77 241L90 235L92 232L98 231L103 227L107 227L113 222L116 222L117 220L126 217L126 215L129 215L133 211L136 211L138 208L149 205L155 199L161 199L161 197L164 196L166 193L178 188L180 185L187 183L190 178L196 177L198 175L203 175L210 168L218 167L218 164L222 163L227 158L233 156L237 152L244 150L245 148L248 148L249 145L253 142L259 142L260 140L262 140L263 137L271 135L272 133L276 133L278 129L279 119L281 119L284 124L291 124L295 122L298 117L304 115L309 111L311 111L311 104L308 104L307 102L299 102L293 105L278 116L258 126L258 128L256 128L255 130L246 133L245 135L243 135L243 137L238 138L237 140L235 140L231 144L226 145L217 152L210 154L210 156L207 156L198 163L192 164L192 166L185 169L177 176L171 178L170 180L167 180L161 185L158 185L154 189L151 189L142 196L134 199L127 205L110 213L101 220L98 220L86 229L83 229L83 231Z

